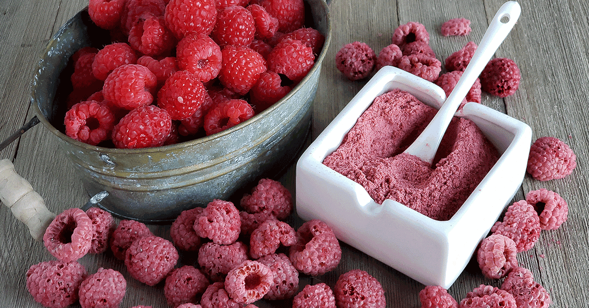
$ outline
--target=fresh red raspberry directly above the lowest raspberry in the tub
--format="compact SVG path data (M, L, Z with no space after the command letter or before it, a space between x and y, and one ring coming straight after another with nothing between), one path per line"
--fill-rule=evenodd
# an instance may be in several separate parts
M104 98L117 107L133 110L150 105L157 79L147 67L125 64L112 70L104 81Z

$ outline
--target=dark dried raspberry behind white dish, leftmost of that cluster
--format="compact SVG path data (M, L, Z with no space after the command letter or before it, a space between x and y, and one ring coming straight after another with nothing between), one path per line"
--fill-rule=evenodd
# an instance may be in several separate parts
M375 67L376 54L363 42L353 42L343 45L335 55L337 69L349 80L361 80Z

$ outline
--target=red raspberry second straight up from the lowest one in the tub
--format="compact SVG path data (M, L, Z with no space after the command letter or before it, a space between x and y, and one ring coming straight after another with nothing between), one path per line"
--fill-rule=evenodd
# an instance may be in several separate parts
M92 62L92 74L98 80L106 80L115 68L125 64L135 64L137 55L126 43L114 43L106 45L94 57Z

